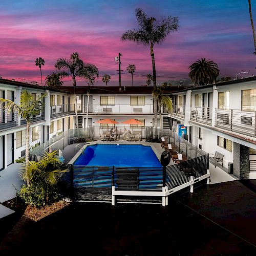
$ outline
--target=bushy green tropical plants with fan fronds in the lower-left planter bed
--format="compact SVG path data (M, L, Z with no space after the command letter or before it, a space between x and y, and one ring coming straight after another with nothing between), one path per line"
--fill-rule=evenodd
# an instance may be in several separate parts
M68 172L57 159L57 151L46 153L39 162L29 161L26 171L25 166L20 170L20 178L31 181L29 187L20 189L20 197L27 204L41 207L59 199L58 182Z

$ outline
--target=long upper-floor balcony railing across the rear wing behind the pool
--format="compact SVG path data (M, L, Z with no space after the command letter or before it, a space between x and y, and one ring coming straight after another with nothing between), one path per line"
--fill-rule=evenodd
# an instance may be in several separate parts
M78 104L77 111L80 113L87 112L87 104ZM100 105L89 104L89 113L99 114L152 114L154 113L153 105L131 106L126 104Z

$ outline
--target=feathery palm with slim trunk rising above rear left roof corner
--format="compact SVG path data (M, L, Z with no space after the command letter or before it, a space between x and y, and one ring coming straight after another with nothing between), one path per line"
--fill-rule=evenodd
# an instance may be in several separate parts
M61 70L61 77L71 76L74 86L75 95L75 129L78 129L78 115L77 115L77 98L76 98L76 77L87 79L91 76L96 75L98 77L98 69L90 64L84 63L77 52L72 53L69 59L59 58L55 64L56 70Z

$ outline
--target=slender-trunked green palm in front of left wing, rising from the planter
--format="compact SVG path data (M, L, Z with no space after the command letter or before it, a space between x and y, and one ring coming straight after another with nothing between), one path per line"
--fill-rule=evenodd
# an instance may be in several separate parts
M40 111L44 109L44 103L42 102L42 99L44 99L47 96L47 94L41 96L38 100L33 100L32 94L28 93L26 90L24 90L20 94L20 105L17 105L13 101L9 99L0 99L0 106L6 102L4 105L4 109L7 110L7 114L10 114L11 112L15 113L26 119L27 122L27 130L26 130L26 153L25 153L25 165L26 165L26 173L28 172L28 162L29 162L29 130L30 130L30 122L32 117L39 115ZM27 185L30 185L29 176L26 177Z

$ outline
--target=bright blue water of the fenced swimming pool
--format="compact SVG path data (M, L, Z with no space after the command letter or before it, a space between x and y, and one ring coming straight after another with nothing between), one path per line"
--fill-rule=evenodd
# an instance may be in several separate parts
M162 167L150 146L96 144L87 146L75 165Z

